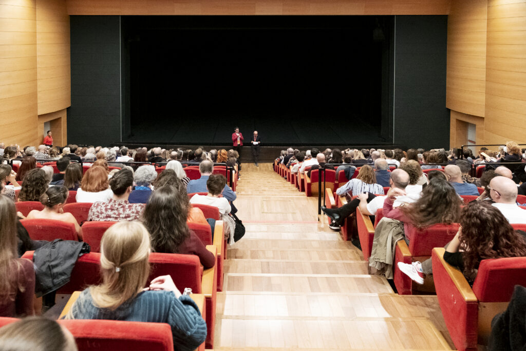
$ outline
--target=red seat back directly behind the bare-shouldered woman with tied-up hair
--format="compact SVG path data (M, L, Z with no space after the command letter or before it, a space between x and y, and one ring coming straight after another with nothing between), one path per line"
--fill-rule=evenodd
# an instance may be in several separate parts
M20 223L26 228L32 240L55 239L78 241L77 230L73 223L62 222L56 219L21 219Z

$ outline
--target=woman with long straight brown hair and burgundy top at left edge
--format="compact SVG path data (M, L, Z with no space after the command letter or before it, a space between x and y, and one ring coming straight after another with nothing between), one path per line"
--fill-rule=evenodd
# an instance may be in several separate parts
M8 197L0 195L1 317L23 317L34 314L35 270L33 262L16 257L16 219L15 204Z

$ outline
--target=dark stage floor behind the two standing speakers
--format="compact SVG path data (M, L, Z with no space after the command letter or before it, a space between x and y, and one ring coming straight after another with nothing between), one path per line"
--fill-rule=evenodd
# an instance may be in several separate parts
M260 117L220 118L187 116L184 119L151 118L133 125L131 135L123 142L184 144L184 145L231 145L231 135L238 126L250 145L252 132L258 131L262 146L302 145L357 145L385 144L380 128L357 117ZM189 123L189 120L193 123Z

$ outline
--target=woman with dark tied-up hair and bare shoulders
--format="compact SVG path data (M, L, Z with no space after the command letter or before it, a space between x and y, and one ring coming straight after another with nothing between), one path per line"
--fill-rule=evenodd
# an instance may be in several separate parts
M46 192L40 197L40 203L44 205L44 209L39 211L32 210L27 215L27 219L41 218L41 219L56 219L62 222L73 223L75 230L80 239L82 239L82 228L78 225L75 217L69 212L64 213L63 207L69 196L68 189L65 186L51 186L47 188Z

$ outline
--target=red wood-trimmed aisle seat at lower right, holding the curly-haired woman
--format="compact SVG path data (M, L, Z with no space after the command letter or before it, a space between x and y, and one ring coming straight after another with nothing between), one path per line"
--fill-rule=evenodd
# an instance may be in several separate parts
M462 272L444 261L444 252L437 247L432 255L440 309L455 347L475 351L487 342L491 320L507 308L514 286L526 286L526 257L482 260L470 287Z

